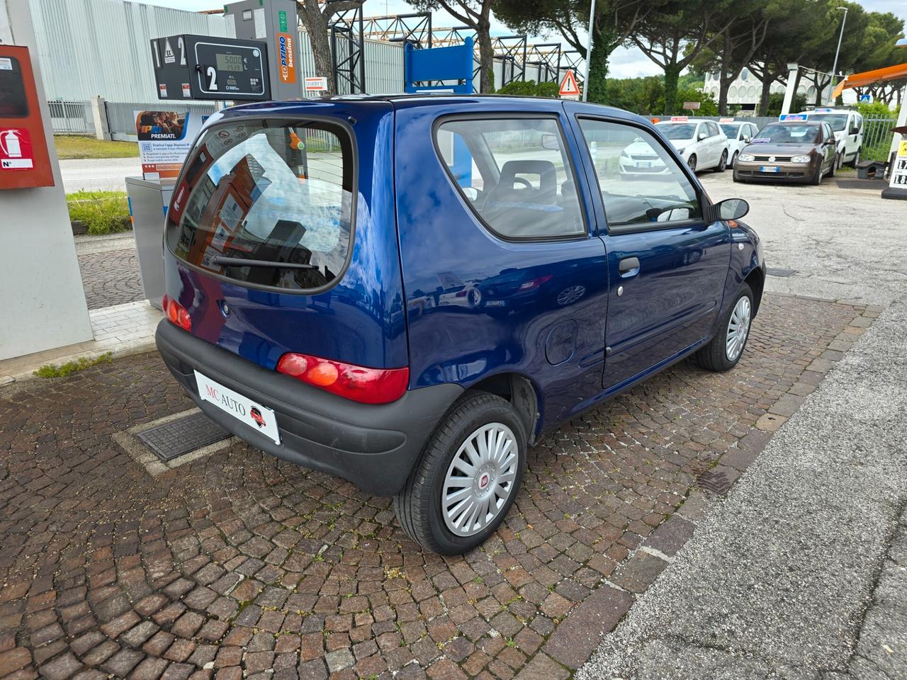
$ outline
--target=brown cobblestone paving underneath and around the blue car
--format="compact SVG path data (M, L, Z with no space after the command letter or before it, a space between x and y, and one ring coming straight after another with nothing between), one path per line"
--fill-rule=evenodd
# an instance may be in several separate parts
M697 477L733 481L862 312L766 296L734 371L677 364L546 437L463 558L242 443L151 478L112 434L190 407L154 354L2 388L0 677L562 680L664 568Z

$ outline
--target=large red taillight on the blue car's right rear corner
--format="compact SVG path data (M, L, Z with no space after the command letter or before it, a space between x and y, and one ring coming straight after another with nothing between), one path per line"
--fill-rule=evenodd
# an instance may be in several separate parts
M366 368L312 355L280 357L278 373L360 403L390 403L403 396L408 368Z

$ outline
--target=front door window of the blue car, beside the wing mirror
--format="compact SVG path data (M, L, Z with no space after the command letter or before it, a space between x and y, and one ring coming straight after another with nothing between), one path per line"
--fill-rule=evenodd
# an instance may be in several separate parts
M702 218L693 184L649 131L594 118L579 122L610 232Z

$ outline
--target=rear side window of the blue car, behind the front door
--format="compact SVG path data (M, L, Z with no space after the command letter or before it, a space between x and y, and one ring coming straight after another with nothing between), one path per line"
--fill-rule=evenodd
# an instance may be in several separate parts
M456 118L435 129L444 166L470 207L501 238L586 233L561 125L553 118Z

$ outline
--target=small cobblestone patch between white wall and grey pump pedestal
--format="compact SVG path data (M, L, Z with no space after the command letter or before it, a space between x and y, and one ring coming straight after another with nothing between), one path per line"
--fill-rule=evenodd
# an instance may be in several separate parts
M79 256L89 309L144 299L135 248Z

